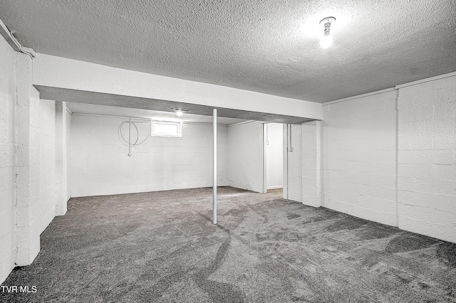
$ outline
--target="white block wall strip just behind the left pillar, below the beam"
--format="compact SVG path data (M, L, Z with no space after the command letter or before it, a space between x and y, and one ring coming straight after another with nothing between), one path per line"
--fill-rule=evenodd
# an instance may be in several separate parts
M56 181L62 178L56 178L56 102L40 100L39 110L40 193L35 207L41 234L56 216Z

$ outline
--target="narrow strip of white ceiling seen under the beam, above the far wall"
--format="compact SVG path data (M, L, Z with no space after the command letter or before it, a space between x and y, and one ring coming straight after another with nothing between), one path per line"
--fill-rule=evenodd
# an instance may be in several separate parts
M160 112L157 110L143 110L139 108L116 107L106 105L94 105L86 103L67 103L68 110L73 114L82 115L103 115L114 117L133 117L145 118L158 121L182 121L192 123L212 123L212 117L203 115L192 115L185 113L182 117L177 117L175 112ZM230 125L244 122L244 119L217 117L217 124Z

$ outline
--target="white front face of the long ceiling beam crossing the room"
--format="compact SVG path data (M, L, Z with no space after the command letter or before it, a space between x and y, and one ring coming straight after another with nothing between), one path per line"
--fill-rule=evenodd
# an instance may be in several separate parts
M41 87L41 90L43 87L49 87L49 90L53 88L54 92L67 90L72 93L73 97L75 91L94 92L108 94L110 97L131 97L129 102L160 100L161 102L170 102L173 107L175 107L175 103L179 103L182 107L195 105L240 110L263 113L264 115L298 117L303 121L323 119L323 107L317 102L152 75L41 53L37 53L33 60L33 85L38 89ZM78 102L77 100L63 101ZM105 102L108 101L105 100ZM122 105L122 100L118 100L117 104L112 105L125 107ZM135 106L129 105L128 107ZM172 107L169 110L171 109ZM153 108L152 110L164 109Z

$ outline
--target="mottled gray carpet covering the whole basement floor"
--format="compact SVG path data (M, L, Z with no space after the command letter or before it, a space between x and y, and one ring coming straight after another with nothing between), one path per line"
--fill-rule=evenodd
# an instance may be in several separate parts
M456 245L267 194L72 198L1 302L456 302ZM30 288L31 289L31 288Z

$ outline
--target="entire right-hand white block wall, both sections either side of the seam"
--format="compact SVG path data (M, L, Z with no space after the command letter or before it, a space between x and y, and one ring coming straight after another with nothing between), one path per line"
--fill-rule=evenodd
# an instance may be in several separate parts
M456 76L324 107L323 206L456 243Z

